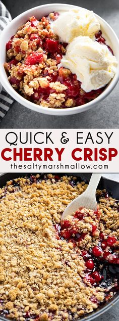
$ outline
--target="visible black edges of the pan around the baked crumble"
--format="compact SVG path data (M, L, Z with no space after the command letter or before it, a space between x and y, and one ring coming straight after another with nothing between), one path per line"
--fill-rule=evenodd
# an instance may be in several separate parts
M33 173L33 175L36 173ZM54 173L57 174L57 173ZM59 174L59 173L58 173ZM7 180L17 178L17 177L24 177L26 173L6 173L3 174L0 177L0 187L3 187L6 185ZM30 173L27 175L30 175ZM64 175L64 173L60 173L59 175ZM68 173L67 175L73 175L80 177L81 179L89 182L91 173ZM113 181L110 179L107 179L105 177L101 177L98 188L100 190L106 189L109 193L112 194L112 196L116 199L119 200L119 182ZM108 303L104 303L99 306L99 308L96 309L96 311L93 311L90 314L87 314L85 317L81 317L80 319L77 319L77 321L91 321L97 316L100 316L102 313L106 312L110 307L112 307L117 301L119 300L119 293L116 293L115 296L109 300ZM0 319L2 321L7 321L8 318L4 317L3 315L0 315Z

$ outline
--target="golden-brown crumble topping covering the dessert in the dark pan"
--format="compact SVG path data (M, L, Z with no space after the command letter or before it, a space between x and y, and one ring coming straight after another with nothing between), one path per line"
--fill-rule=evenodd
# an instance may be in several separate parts
M57 181L52 174L44 177L40 181L37 174L32 184L29 178L16 178L16 186L11 180L0 189L0 310L8 310L7 317L20 321L28 313L31 320L77 319L97 308L92 297L99 304L104 300L104 289L83 279L81 250L72 242L56 239L54 228L66 206L87 184L81 181L71 186L75 177L63 176ZM103 193L97 191L101 211L98 228L118 239L118 205Z

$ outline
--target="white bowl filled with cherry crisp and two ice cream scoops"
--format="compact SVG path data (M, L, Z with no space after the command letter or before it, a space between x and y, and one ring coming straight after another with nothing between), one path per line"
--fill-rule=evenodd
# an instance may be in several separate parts
M102 18L85 11L62 4L39 6L2 32L0 79L18 102L34 111L68 115L90 109L113 89L119 74L118 38ZM69 12L75 24L79 19L78 31L67 21ZM62 19L69 28L65 36Z

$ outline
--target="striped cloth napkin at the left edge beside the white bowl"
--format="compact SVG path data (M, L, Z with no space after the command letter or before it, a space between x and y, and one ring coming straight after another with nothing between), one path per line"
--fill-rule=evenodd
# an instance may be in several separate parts
M2 1L0 0L0 33L6 27L6 25L12 20L9 11L6 9ZM0 121L6 115L8 110L13 104L13 99L7 93L7 91L2 87L0 83Z

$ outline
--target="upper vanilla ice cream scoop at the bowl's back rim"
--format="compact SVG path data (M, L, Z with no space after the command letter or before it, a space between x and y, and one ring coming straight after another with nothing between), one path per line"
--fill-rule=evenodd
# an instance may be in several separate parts
M68 43L80 35L92 38L100 30L94 12L83 8L61 13L51 26L59 39Z

